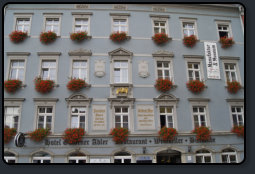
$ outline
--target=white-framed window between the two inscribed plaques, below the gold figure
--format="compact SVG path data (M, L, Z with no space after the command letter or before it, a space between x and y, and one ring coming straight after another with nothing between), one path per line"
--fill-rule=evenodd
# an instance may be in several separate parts
M115 127L128 129L128 107L115 107Z

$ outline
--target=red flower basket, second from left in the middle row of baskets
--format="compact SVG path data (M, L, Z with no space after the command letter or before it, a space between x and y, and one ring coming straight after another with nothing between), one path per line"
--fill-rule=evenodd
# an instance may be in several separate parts
M49 93L54 87L53 80L42 80L40 77L35 78L35 89L40 93Z

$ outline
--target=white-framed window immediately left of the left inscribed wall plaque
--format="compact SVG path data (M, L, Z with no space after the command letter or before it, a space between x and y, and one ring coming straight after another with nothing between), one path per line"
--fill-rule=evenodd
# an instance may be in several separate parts
M83 128L85 129L85 107L72 107L71 113L71 128Z

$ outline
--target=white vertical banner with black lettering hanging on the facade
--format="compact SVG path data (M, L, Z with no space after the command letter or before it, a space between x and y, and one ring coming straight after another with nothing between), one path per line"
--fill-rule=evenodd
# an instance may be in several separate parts
M214 42L204 42L208 79L220 79L219 57Z

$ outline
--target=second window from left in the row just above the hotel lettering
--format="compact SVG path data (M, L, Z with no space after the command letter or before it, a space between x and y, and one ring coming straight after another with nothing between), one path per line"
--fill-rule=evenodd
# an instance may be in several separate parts
M38 107L37 128L52 128L53 107Z

